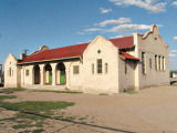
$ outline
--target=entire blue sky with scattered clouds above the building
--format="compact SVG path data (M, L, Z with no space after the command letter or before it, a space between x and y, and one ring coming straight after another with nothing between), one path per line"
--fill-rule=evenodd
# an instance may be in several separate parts
M177 0L0 0L0 63L50 49L145 33L157 24L177 70Z

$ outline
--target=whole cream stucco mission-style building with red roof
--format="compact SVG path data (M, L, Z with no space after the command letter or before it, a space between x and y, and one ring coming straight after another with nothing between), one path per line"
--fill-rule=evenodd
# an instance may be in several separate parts
M152 25L145 34L49 50L43 45L4 62L6 88L56 89L85 93L118 93L169 84L168 45Z

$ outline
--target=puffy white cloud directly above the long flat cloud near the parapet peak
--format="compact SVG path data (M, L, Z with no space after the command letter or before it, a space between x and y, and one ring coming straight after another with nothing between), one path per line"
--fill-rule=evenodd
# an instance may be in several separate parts
M114 19L105 20L105 21L98 23L98 25L105 27L106 24L123 24L123 23L129 23L129 22L132 22L131 18L119 18L117 20L114 20ZM97 24L97 23L95 23L95 24Z

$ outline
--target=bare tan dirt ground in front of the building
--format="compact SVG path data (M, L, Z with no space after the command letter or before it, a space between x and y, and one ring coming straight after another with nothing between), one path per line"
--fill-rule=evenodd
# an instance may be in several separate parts
M174 80L175 81L175 80ZM175 82L173 82L175 83ZM66 101L74 106L62 110L65 114L83 116L85 122L66 122L50 117L46 133L176 133L177 85L148 88L134 94L114 95L70 94L52 92L14 92L19 101ZM13 111L1 109L0 119L10 117ZM11 123L0 124L0 133L13 133ZM52 126L51 126L52 125Z

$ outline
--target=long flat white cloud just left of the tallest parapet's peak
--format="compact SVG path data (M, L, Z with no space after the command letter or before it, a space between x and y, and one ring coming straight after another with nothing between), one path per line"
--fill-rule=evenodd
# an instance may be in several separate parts
M134 31L134 30L147 30L150 29L150 25L146 24L121 24L112 28L108 32L124 32L124 31Z

